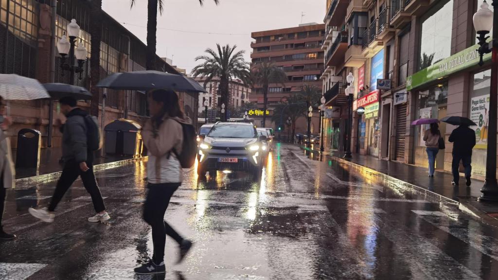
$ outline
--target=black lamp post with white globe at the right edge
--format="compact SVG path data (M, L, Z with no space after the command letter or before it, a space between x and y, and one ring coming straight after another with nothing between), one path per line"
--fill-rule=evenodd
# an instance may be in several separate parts
M498 1L493 0L494 8L498 7ZM489 9L489 4L484 1L481 8L474 14L474 27L479 35L479 65L483 66L483 56L491 54L491 88L490 88L490 110L488 126L488 147L486 153L486 181L479 197L480 201L498 202L498 182L497 182L497 107L498 107L498 16L493 16L493 11ZM493 38L491 48L486 40L486 35L493 28Z

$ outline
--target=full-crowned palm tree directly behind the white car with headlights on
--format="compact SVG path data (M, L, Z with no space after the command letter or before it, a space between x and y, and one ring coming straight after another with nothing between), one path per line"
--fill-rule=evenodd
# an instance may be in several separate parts
M201 55L195 58L195 61L203 62L192 69L192 76L205 76L207 79L204 85L211 82L214 78L220 79L218 87L221 94L221 103L229 107L229 83L234 78L239 78L243 82L250 83L249 63L244 60L244 50L235 52L237 45L220 46L216 44L217 50L212 48L206 49L208 55ZM220 104L218 104L220 106ZM227 120L228 110L222 115L222 121Z

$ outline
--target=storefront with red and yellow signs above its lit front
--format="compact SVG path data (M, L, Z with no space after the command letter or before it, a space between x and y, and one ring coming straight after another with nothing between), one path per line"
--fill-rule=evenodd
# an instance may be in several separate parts
M363 111L358 122L358 147L361 154L378 156L380 140L378 109L379 92L377 90L353 103L355 112Z

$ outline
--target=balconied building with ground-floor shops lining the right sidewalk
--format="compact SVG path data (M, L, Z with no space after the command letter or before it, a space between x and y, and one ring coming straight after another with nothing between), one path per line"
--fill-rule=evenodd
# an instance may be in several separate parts
M340 118L326 120L327 131L347 131L349 104L344 88L351 72L355 77L353 152L427 166L422 140L427 128L410 123L419 118L463 116L479 123L473 127L479 139L473 152L473 175L483 175L491 61L490 55L485 56L485 65L479 67L472 24L482 3L327 0L322 82L327 105L342 110ZM390 80L391 90L378 90L377 79ZM361 107L364 114L357 113ZM436 169L451 170L452 143L447 140L454 128L440 124L446 149L438 153ZM343 133L336 135L327 135L328 147L343 150L344 145L331 145L345 142Z

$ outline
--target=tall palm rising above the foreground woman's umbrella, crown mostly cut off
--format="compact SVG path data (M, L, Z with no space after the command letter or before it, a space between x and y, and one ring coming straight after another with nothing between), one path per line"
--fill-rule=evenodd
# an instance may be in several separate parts
M218 4L219 0L213 0ZM135 4L136 0L130 0L131 7ZM204 0L199 0L199 3L204 4ZM147 70L155 70L155 55L157 43L157 10L160 14L164 11L164 0L148 0L147 4L147 52L145 68Z

